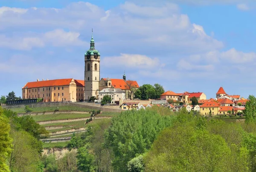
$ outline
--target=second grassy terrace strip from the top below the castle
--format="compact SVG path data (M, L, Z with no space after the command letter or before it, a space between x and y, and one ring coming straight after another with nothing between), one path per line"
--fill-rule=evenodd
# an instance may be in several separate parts
M77 118L87 118L90 117L90 114L50 114L50 115L36 115L32 116L32 118L36 121L56 121L56 120L64 120L64 119L77 119Z

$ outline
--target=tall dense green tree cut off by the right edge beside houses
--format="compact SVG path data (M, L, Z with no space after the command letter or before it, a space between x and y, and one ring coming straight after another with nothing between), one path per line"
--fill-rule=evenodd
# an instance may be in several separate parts
M248 98L249 101L245 104L245 122L256 122L256 98L255 96L250 95Z

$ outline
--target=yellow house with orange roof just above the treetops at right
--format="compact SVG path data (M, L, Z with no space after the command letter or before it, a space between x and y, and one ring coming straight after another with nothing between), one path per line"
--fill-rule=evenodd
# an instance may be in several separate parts
M211 111L212 115L217 115L219 111L219 107L220 106L218 102L208 101L200 106L200 113L201 115L208 115Z

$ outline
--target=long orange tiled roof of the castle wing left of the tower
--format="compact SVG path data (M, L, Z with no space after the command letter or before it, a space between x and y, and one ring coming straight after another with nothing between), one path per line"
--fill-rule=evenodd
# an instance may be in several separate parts
M53 79L53 80L46 80L46 81L35 81L35 82L27 82L24 88L36 88L36 87L50 87L50 86L61 86L61 85L70 85L70 79Z

